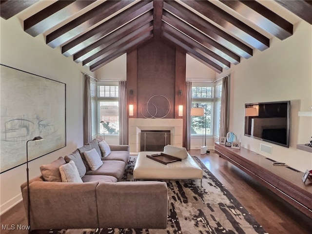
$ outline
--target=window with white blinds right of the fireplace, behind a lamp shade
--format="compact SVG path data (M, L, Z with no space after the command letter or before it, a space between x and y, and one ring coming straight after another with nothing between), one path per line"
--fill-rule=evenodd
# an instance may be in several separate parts
M193 83L192 108L203 108L204 116L191 117L191 134L219 137L222 83Z

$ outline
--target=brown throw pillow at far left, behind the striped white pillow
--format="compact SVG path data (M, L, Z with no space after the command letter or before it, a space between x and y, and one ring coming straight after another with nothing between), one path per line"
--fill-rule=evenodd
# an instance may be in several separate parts
M43 179L50 182L62 182L62 178L59 173L59 167L64 164L66 164L64 158L59 157L50 164L41 165L40 171Z

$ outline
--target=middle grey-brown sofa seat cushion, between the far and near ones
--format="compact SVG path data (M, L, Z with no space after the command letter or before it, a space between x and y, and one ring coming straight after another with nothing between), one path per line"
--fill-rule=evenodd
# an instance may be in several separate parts
M105 160L103 161L103 165L97 170L87 171L86 175L114 176L120 181L125 171L125 167L126 164L123 161Z

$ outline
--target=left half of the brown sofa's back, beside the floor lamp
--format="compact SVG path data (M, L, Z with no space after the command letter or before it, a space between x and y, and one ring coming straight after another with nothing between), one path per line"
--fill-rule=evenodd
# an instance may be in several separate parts
M35 229L97 228L98 182L34 181L29 185L30 223ZM27 213L27 187L22 189Z

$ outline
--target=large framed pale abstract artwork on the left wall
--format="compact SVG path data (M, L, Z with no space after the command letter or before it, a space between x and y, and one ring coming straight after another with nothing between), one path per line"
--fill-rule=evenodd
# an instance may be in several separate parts
M0 173L66 146L66 84L0 65Z

